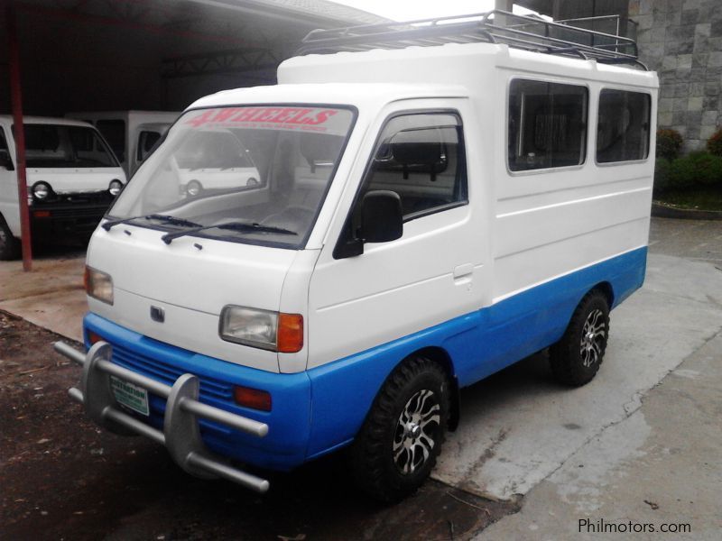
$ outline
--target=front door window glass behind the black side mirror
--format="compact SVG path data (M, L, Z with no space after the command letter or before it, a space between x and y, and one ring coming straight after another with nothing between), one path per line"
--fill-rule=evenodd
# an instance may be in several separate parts
M359 200L377 189L399 194L404 221L465 203L467 171L458 115L400 115L389 120Z

